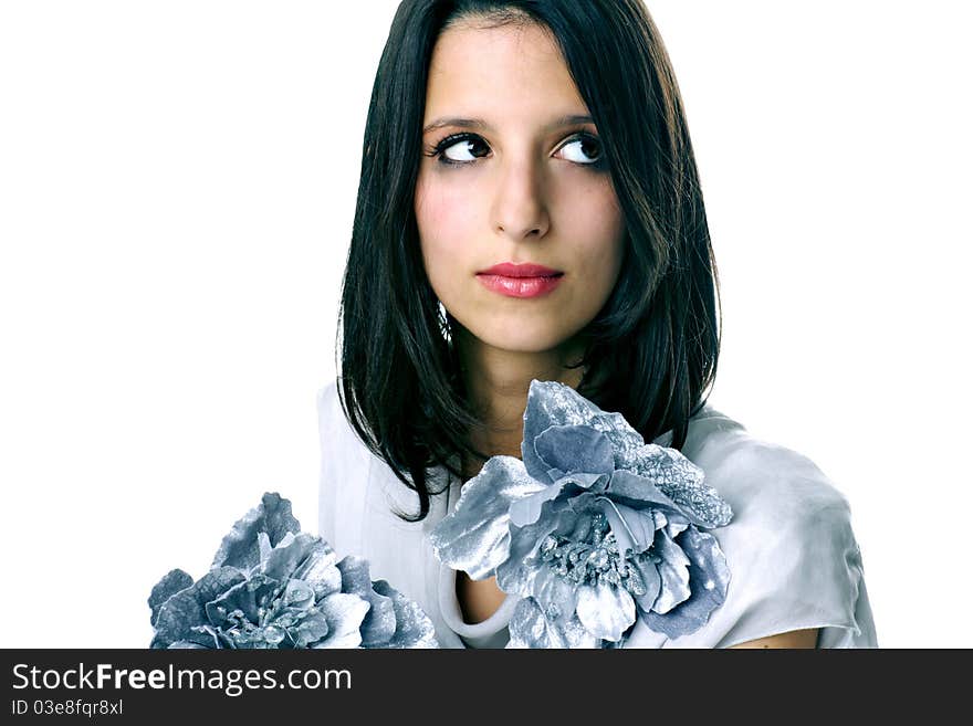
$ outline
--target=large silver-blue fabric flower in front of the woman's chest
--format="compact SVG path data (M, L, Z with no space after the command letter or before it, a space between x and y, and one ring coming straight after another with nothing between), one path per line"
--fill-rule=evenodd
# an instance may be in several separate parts
M509 648L617 648L636 619L669 638L725 599L730 506L674 449L534 380L522 460L493 456L430 533L440 560L522 596Z

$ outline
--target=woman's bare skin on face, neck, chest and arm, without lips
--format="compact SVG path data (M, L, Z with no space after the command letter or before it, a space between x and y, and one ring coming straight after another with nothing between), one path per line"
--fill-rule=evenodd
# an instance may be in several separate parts
M580 383L583 370L567 366L580 358L582 332L608 299L624 259L624 220L610 173L604 160L597 164L597 127L556 123L565 116L589 111L542 27L490 28L471 19L440 34L426 93L416 220L426 274L457 322L462 375L483 422L473 443L489 455L520 457L532 379ZM471 136L441 145L456 134ZM502 262L542 264L564 276L547 295L506 297L477 277ZM465 477L484 461L464 461ZM467 622L485 620L505 598L494 578L472 581L463 572L457 595ZM776 638L791 640L750 646L807 640Z

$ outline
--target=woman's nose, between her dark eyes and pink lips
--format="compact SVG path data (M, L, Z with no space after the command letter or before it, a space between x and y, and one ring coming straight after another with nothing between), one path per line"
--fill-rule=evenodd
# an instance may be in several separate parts
M493 220L496 234L514 242L547 234L551 219L538 162L517 159L503 167L493 199Z

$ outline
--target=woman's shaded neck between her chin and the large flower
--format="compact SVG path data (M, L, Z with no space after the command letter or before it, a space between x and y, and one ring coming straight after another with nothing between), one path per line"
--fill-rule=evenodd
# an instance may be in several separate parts
M472 444L488 456L519 459L531 381L577 388L584 370L568 366L580 360L583 343L573 339L552 350L524 353L495 348L467 330L457 330L454 340L467 394L482 424L471 432ZM482 463L469 462L468 467L475 473Z

